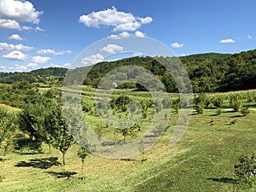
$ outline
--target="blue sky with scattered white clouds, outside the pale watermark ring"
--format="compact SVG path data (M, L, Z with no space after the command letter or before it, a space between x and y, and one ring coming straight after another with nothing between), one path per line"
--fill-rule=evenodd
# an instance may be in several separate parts
M0 72L69 67L106 38L153 38L177 56L256 49L255 10L255 0L0 0ZM83 64L120 51L107 44Z

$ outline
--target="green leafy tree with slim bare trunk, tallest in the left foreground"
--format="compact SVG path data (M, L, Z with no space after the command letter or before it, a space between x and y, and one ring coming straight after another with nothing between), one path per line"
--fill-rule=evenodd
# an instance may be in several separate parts
M65 165L65 154L73 143L73 136L68 129L64 119L61 106L54 103L45 118L45 130L49 133L52 146L59 149L62 153L62 164Z

